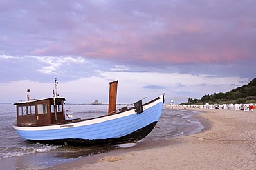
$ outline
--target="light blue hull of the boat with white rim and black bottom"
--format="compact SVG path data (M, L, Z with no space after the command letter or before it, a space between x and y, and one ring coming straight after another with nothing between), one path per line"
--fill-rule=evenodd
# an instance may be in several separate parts
M30 142L83 146L137 142L145 138L158 122L163 95L142 107L141 113L133 108L90 120L31 127L14 125L14 128L21 138Z

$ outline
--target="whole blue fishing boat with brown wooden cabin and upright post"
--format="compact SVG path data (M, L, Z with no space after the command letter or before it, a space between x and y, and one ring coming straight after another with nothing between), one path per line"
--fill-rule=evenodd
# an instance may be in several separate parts
M51 98L14 103L17 121L13 124L24 140L55 145L93 146L137 142L154 129L164 103L164 94L131 107L116 110L118 81L109 83L109 108L104 116L89 119L71 118L64 109L65 98L55 91Z

